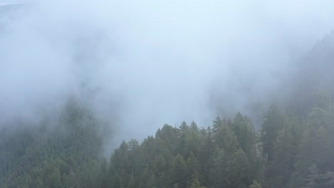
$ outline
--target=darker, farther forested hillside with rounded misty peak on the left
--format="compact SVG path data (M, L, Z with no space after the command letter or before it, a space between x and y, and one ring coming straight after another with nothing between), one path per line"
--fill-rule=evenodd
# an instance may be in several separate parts
M60 117L16 124L0 132L0 187L96 187L102 138L87 108L69 100Z

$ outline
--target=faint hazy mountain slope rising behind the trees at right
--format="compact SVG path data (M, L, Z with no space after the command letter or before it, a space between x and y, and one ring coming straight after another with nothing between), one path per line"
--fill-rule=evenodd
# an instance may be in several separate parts
M305 115L313 104L313 95L318 92L329 93L334 98L334 33L326 34L305 57L295 63L295 71L280 90L288 90L285 105Z

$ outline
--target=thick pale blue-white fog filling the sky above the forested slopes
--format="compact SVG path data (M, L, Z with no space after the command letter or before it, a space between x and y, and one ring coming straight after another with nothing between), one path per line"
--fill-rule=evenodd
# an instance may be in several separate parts
M0 5L1 127L39 122L76 96L116 142L164 123L263 113L293 62L334 23L331 1Z

